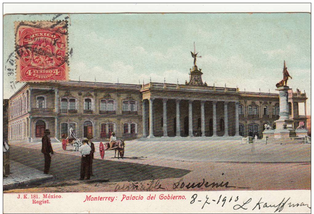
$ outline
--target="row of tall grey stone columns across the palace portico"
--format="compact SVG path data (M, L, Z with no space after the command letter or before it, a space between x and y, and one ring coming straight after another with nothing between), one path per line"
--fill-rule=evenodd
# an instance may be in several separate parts
M163 137L168 137L168 132L167 132L167 101L168 99L163 99ZM193 111L192 111L192 103L194 100L188 100L188 120L189 120L189 134L188 136L193 137ZM208 100L212 101L212 100ZM180 102L181 99L176 99L176 133L175 137L181 137L180 136ZM205 137L205 109L204 109L204 104L206 100L201 100L201 132L202 132L202 137ZM239 135L239 102L238 101L224 101L224 122L225 122L225 131L224 131L224 137L229 136L228 135L228 103L229 102L234 102L235 103L235 128L236 128L236 134L235 136L240 136ZM143 137L148 137L152 138L154 137L154 112L153 112L153 103L154 103L154 98L149 99L149 135L146 135L146 104L145 101L143 100L142 102L142 114L143 114ZM217 101L212 101L213 103L213 137L217 136L217 115L216 115L216 105Z

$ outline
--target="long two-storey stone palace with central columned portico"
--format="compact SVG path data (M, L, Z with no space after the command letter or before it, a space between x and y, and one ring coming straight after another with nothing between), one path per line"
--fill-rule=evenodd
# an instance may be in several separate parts
M259 136L264 125L279 118L279 94L207 86L195 64L185 84L119 84L84 81L26 83L9 99L9 142L40 142L45 129L51 139L94 136L118 138ZM294 128L306 125L306 94L289 91Z

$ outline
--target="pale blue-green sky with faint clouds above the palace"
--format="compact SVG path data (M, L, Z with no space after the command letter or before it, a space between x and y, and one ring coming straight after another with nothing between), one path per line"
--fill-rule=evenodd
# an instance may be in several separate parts
M311 112L311 15L309 13L61 14L69 17L70 79L138 84L180 84L193 66L193 42L208 85L276 92L286 60L294 91L306 91ZM11 88L5 66L14 52L14 21L51 20L56 14L3 18L4 98ZM22 84L15 84L18 89Z

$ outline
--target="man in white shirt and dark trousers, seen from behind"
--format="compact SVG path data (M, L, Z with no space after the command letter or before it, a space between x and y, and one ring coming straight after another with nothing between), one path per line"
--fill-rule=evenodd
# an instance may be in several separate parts
M88 139L83 140L83 145L81 145L78 149L78 151L81 153L81 177L79 180L84 180L85 178L85 172L86 172L86 179L89 180L90 178L90 151L91 148L88 145Z

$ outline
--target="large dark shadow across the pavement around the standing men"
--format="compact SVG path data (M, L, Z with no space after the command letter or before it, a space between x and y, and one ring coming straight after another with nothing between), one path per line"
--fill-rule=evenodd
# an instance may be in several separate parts
M44 169L44 155L41 153L41 150L11 145L10 159L40 171ZM139 159L139 157L125 159ZM49 172L54 176L54 181L46 183L45 186L53 186L54 183L62 183L62 181L71 182L72 184L73 182L79 183L80 167L81 158L79 156L54 153L51 157ZM170 167L94 159L94 176L91 177L89 182L93 182L93 180L117 182L180 178L189 172L189 170Z

